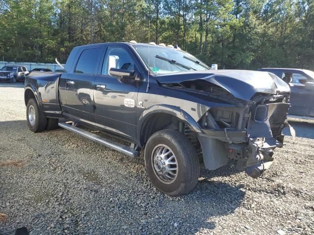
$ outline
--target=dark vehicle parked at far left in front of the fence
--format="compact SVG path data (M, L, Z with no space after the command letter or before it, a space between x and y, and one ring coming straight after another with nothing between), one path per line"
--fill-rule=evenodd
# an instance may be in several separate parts
M0 70L0 81L9 80L11 83L24 81L28 74L29 71L24 66L7 65Z

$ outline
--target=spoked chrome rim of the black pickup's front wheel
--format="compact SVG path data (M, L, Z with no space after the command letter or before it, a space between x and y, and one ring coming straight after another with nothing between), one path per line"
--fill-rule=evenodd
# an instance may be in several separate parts
M171 184L178 175L178 162L173 151L165 144L158 144L152 153L152 166L157 178Z

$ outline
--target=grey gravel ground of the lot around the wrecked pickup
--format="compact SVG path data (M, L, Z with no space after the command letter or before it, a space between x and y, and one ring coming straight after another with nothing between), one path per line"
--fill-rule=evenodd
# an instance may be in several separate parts
M313 121L290 121L296 141L287 130L261 178L202 166L196 188L175 198L151 185L143 153L63 129L30 132L23 91L0 83L0 234L314 234ZM21 162L1 165L12 160Z

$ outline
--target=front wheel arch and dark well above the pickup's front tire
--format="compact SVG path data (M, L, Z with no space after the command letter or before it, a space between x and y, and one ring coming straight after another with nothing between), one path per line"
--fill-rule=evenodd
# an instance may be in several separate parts
M189 139L198 153L202 152L201 144L197 138L196 133L189 128L186 122L180 120L174 115L162 113L152 114L143 123L140 133L140 141L142 146L146 144L150 136L155 132L165 129L180 131L187 139Z

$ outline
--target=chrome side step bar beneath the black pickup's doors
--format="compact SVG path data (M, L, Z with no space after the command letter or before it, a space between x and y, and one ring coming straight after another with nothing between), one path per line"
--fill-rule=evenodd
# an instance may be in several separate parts
M76 126L69 125L65 122L59 122L58 125L64 129L72 131L72 132L74 132L78 135L81 135L81 136L83 136L83 137L85 137L91 141L95 141L95 142L98 142L100 144L103 144L106 147L112 148L112 149L114 149L120 153L125 154L125 155L131 156L131 157L138 157L139 156L139 152L134 150L134 149L131 149L131 148L129 148L123 144L107 140L101 136L98 136L96 134L93 134L93 133L90 133L90 132L85 131L83 129L80 129Z

